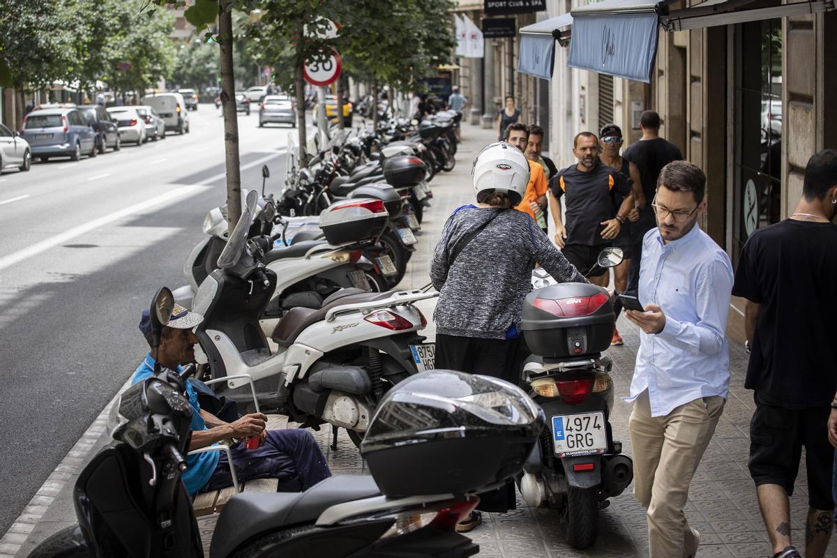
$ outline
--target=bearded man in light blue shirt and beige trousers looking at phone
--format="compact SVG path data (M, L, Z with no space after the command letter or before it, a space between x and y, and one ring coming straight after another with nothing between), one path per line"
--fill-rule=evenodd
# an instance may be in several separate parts
M624 399L634 403L634 496L647 510L650 558L695 556L700 534L683 509L729 391L732 263L697 224L705 191L690 162L660 172L652 203L660 224L645 234L639 274L645 311L625 311L640 330Z

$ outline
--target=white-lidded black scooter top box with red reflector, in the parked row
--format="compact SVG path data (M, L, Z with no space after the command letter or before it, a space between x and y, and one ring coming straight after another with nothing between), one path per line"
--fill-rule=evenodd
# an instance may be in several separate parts
M334 202L320 213L320 228L331 244L377 238L387 226L389 212L381 200L348 199Z

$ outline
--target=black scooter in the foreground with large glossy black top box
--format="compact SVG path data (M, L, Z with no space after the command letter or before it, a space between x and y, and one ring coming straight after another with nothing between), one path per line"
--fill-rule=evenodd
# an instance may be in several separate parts
M115 442L75 486L79 525L44 540L33 558L203 558L180 482L192 416L187 373L160 371L122 394L109 424ZM237 494L218 516L211 555L475 555L479 546L456 524L479 503L475 493L520 471L543 423L542 411L505 381L453 371L413 376L372 418L361 448L371 477L336 475L302 493Z

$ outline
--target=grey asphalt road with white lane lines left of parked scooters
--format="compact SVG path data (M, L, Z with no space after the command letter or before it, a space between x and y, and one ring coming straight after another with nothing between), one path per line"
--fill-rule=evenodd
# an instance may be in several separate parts
M190 119L184 136L0 175L0 533L136 369L142 308L184 284L226 201L220 111ZM280 192L290 131L239 115L242 187L267 164Z

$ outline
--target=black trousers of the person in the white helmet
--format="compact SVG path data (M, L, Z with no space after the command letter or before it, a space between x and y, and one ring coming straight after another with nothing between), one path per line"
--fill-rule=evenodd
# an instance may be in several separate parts
M436 334L436 368L493 376L515 385L520 382L523 361L529 350L522 337L516 339L481 339ZM516 509L515 484L477 494L480 511L506 513Z

